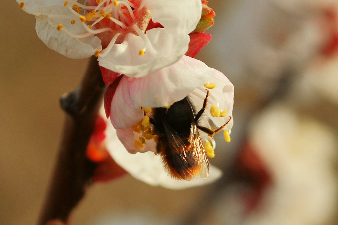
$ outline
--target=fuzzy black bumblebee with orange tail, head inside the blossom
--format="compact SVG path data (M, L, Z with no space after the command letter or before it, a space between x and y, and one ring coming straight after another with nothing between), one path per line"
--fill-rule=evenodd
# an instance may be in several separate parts
M169 108L153 108L149 122L155 136L156 153L162 156L169 174L179 180L191 180L197 174L206 179L209 175L209 160L199 135L201 130L215 135L231 120L216 130L199 125L198 119L207 106L209 91L197 113L189 97L175 102Z

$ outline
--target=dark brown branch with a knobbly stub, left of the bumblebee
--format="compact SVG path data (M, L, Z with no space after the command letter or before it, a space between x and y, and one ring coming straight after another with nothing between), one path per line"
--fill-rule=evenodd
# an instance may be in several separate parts
M97 58L92 57L79 87L61 97L61 107L67 113L64 132L39 225L52 219L67 222L86 192L96 168L96 164L86 158L86 149L104 90Z

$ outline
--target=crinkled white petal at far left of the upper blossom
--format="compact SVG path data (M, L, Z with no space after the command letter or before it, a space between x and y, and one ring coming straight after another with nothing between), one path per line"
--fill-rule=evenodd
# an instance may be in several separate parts
M71 30L73 34L87 33L79 18L71 13L67 7L59 5L49 6L39 9L38 12L42 14L35 16L37 19L35 30L37 31L39 38L50 49L74 59L90 57L94 54L96 49L102 49L101 40L94 35L84 38L75 38L64 31L64 29ZM67 15L68 18L49 18L44 13ZM72 19L76 20L77 23L72 25L70 23ZM63 29L56 29L59 24L63 24Z

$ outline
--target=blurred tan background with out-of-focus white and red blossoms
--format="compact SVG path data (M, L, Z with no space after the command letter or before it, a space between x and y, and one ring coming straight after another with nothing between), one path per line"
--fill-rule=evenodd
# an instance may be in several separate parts
M35 18L14 0L4 4L0 223L35 224L61 137L58 99L88 60L48 49ZM338 1L208 5L213 38L197 58L235 86L232 141L210 160L223 177L181 191L129 175L95 184L71 224L338 224Z

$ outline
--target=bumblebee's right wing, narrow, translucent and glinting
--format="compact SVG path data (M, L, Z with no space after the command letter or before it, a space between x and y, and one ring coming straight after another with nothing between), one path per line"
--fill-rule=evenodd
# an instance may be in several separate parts
M202 179L207 179L209 176L209 160L195 123L192 123L190 128L190 149L194 150L195 158L200 165L199 175Z

